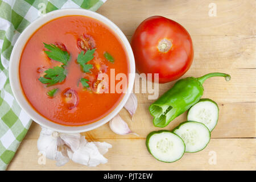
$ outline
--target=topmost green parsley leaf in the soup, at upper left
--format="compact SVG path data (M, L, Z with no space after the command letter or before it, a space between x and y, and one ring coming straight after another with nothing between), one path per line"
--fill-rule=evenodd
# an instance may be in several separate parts
M54 44L46 44L44 43L44 47L49 49L49 51L44 51L47 56L55 61L59 61L66 65L69 61L69 53L67 51L61 50L59 47Z

